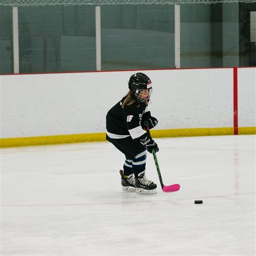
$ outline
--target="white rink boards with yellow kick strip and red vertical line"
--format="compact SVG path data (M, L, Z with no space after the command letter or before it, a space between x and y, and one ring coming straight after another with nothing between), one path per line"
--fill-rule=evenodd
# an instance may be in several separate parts
M135 72L0 76L1 147L105 140L106 113ZM256 133L256 68L142 72L153 82L153 137Z

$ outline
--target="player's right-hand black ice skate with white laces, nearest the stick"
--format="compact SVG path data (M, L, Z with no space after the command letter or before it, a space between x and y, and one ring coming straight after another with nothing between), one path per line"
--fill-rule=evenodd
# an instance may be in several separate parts
M148 180L145 176L145 171L138 174L138 178L135 178L136 193L138 194L156 194L157 184L153 181Z

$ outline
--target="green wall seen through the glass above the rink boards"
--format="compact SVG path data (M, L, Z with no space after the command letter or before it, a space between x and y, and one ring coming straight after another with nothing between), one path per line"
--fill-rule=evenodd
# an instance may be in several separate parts
M181 68L211 67L212 6L180 5ZM238 63L237 6L223 8L224 66ZM95 6L18 11L21 73L96 70ZM102 70L174 68L174 5L102 5L101 24ZM12 9L0 6L0 73L13 72L12 58Z

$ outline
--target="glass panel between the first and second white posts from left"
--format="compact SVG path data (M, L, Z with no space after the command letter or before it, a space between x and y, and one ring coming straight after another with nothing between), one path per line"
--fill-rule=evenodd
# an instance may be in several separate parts
M95 8L19 8L21 73L94 71Z

